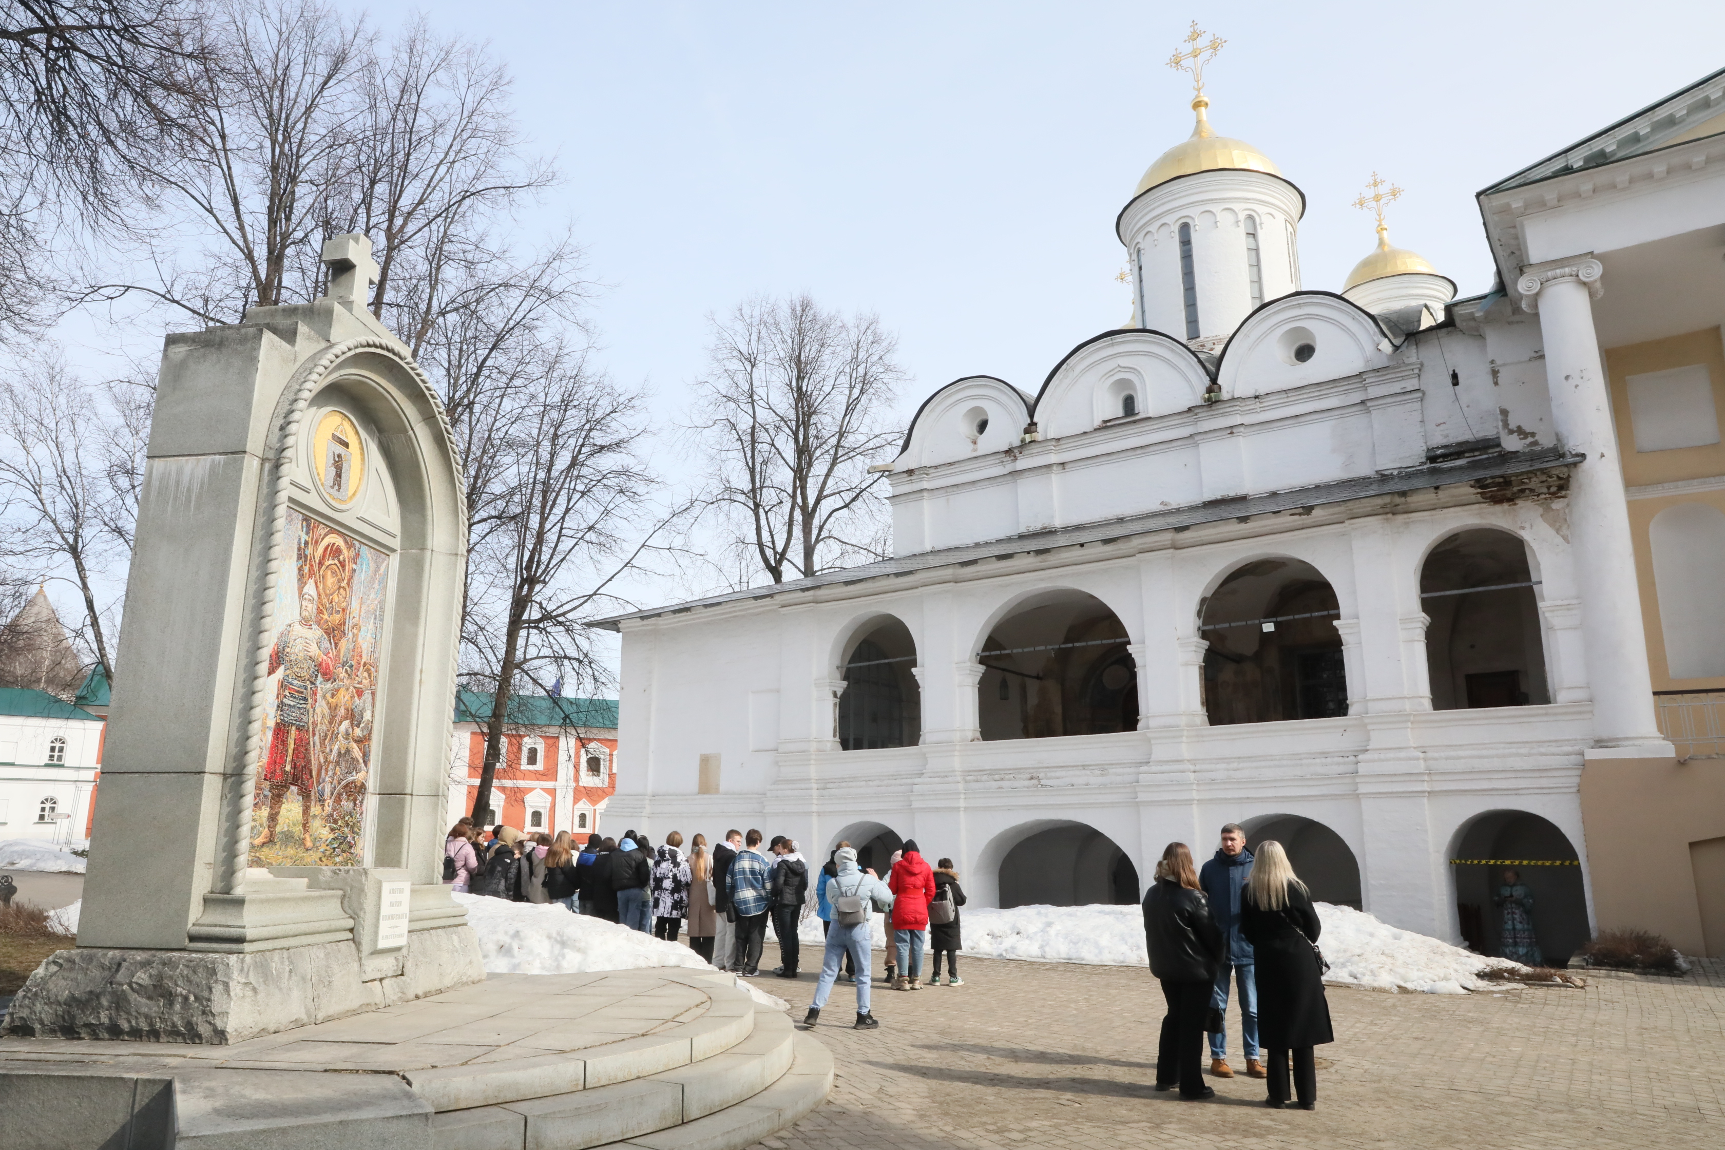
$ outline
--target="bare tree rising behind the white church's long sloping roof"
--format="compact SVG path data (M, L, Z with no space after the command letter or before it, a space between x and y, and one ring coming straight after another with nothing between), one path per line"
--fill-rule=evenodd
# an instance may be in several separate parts
M881 503L868 471L904 378L875 316L845 319L807 295L756 298L712 322L693 428L714 459L711 500L733 552L783 583L876 555Z

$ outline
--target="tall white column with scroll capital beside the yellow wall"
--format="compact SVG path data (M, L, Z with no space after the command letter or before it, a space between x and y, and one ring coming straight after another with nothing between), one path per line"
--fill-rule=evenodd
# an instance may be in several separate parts
M1623 466L1594 334L1590 300L1601 293L1603 271L1599 260L1589 257L1537 264L1523 269L1516 288L1521 307L1539 312L1546 386L1558 438L1585 457L1570 471L1570 545L1582 593L1594 741L1599 747L1634 747L1665 740L1653 714L1653 678L1640 626Z

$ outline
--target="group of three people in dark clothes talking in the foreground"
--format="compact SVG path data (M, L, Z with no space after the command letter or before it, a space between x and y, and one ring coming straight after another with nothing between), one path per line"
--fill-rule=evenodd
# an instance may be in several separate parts
M1251 852L1245 831L1230 822L1202 871L1185 843L1168 843L1144 897L1151 974L1168 1003L1156 1090L1178 1088L1187 1100L1216 1097L1204 1084L1206 1033L1211 1074L1233 1078L1225 1026L1232 983L1240 995L1245 1072L1268 1079L1264 1105L1282 1109L1294 1100L1302 1110L1314 1109L1313 1048L1335 1041L1320 931L1311 893L1282 843L1266 840Z

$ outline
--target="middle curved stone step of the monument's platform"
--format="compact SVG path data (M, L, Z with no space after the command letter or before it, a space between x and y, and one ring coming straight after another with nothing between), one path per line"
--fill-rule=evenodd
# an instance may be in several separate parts
M431 1145L585 1150L680 1129L764 1097L792 1071L795 1038L788 1016L759 1007L749 1038L723 1053L595 1090L443 1112L431 1121Z

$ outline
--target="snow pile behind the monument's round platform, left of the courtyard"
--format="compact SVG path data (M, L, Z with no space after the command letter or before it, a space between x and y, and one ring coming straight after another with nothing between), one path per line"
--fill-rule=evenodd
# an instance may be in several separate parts
M486 974L586 974L650 966L712 969L683 943L668 943L586 914L569 914L557 903L459 893L452 897L467 909L467 926L480 936ZM749 993L762 1005L790 1009L783 998L757 986L749 984Z

